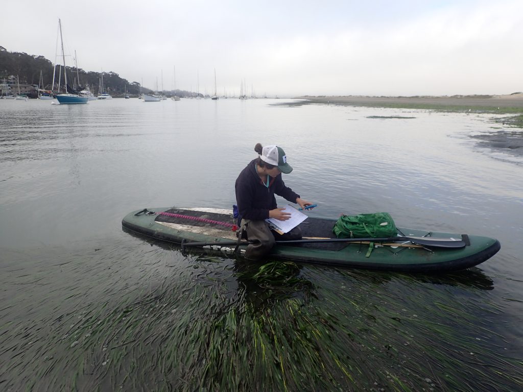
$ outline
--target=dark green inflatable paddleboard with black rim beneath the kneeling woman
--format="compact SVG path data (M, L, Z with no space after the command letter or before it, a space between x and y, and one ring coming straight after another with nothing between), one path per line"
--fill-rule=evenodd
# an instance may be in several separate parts
M332 238L337 218L309 217L301 223L304 238ZM147 208L129 213L122 227L133 233L175 244L199 245L209 250L242 257L247 244L237 246L232 209ZM466 246L422 246L408 240L278 243L267 259L403 272L449 272L467 269L491 258L501 248L495 238L398 227L399 236L465 240ZM353 239L354 240L354 239ZM315 240L312 240L315 241ZM321 241L321 242L320 242ZM339 241L339 240L338 240Z

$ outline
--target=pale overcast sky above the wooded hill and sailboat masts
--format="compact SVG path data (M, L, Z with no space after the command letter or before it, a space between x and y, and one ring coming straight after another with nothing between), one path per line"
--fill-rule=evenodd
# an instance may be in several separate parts
M278 95L523 90L522 0L2 2L0 46L154 88ZM60 61L60 60L59 60ZM66 57L72 65L72 57Z

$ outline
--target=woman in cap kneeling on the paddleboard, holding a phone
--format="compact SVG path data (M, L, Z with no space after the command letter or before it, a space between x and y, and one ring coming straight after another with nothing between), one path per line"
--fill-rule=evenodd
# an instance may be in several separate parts
M278 208L275 193L292 203L298 203L302 209L312 205L283 183L281 174L289 174L292 167L287 163L287 156L281 147L262 147L257 143L254 151L259 157L253 159L242 170L235 185L242 230L252 242L245 252L245 258L250 260L258 260L265 256L274 246L275 240L301 239L300 226L280 235L271 230L269 223L265 221L267 218L287 221L290 217L290 213Z

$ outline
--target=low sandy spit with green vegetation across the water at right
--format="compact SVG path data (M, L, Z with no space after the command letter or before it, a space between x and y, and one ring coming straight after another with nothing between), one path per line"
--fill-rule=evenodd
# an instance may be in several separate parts
M452 97L364 97L364 96L302 96L311 103L333 103L347 106L437 106L437 107L484 107L521 108L523 93L502 96L452 96Z

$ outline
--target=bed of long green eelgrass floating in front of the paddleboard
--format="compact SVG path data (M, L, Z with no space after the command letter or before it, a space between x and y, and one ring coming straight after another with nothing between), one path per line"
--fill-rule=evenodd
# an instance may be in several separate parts
M77 371L61 359L41 376L60 375L63 390L523 388L482 274L185 263L134 301L86 314L57 342Z

